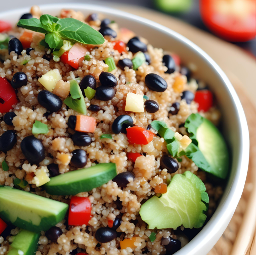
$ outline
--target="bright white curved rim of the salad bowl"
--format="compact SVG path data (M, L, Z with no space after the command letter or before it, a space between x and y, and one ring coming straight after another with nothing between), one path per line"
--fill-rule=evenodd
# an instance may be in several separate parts
M205 227L199 232L199 234L197 234L195 238L193 238L187 245L185 245L182 249L180 249L177 253L175 253L175 255L176 254L177 255L182 255L182 254L183 255L184 254L202 255L202 253L199 253L199 252L203 246L205 249L208 249L208 251L210 251L210 249L213 247L214 244L212 244L212 246L209 245L209 240L211 240L211 238L214 236L216 237L219 235L220 237L220 235L224 232L224 230L222 231L221 228L223 226L228 225L232 215L235 212L235 209L238 205L238 202L243 192L243 188L244 188L244 184L247 176L248 163L249 163L249 130L247 126L246 117L245 117L241 102L236 94L236 91L233 88L226 74L217 65L217 63L196 44L191 42L186 37L180 35L179 33L173 31L172 29L169 29L149 19L137 16L131 13L127 13L118 9L99 6L97 4L58 3L58 4L43 4L43 5L39 5L39 7L42 11L47 11L47 10L60 11L61 9L75 9L75 10L86 11L86 12L94 11L94 12L99 12L107 15L114 15L119 18L125 18L128 20L130 19L138 23L141 23L145 26L148 26L151 29L159 30L163 34L167 34L170 37L173 37L175 40L181 42L183 46L188 47L191 51L194 51L195 53L200 55L200 57L203 58L204 61L208 62L208 64L214 69L215 74L219 76L219 78L222 80L224 87L226 91L229 93L229 97L233 103L232 107L235 107L235 110L237 113L237 122L240 124L238 128L240 133L240 137L239 137L240 148L239 148L239 158L237 162L237 172L234 176L234 180L233 180L233 183L231 184L231 188L229 189L229 194L227 194L225 207L223 206L223 208L221 208L220 210L218 210L218 207L217 207L217 210L215 211L211 219L207 222ZM14 13L23 14L27 12L28 8L29 7L23 7L20 9L0 12L0 18L1 16L13 15ZM217 242L217 239L215 241ZM199 245L200 243L202 245Z

